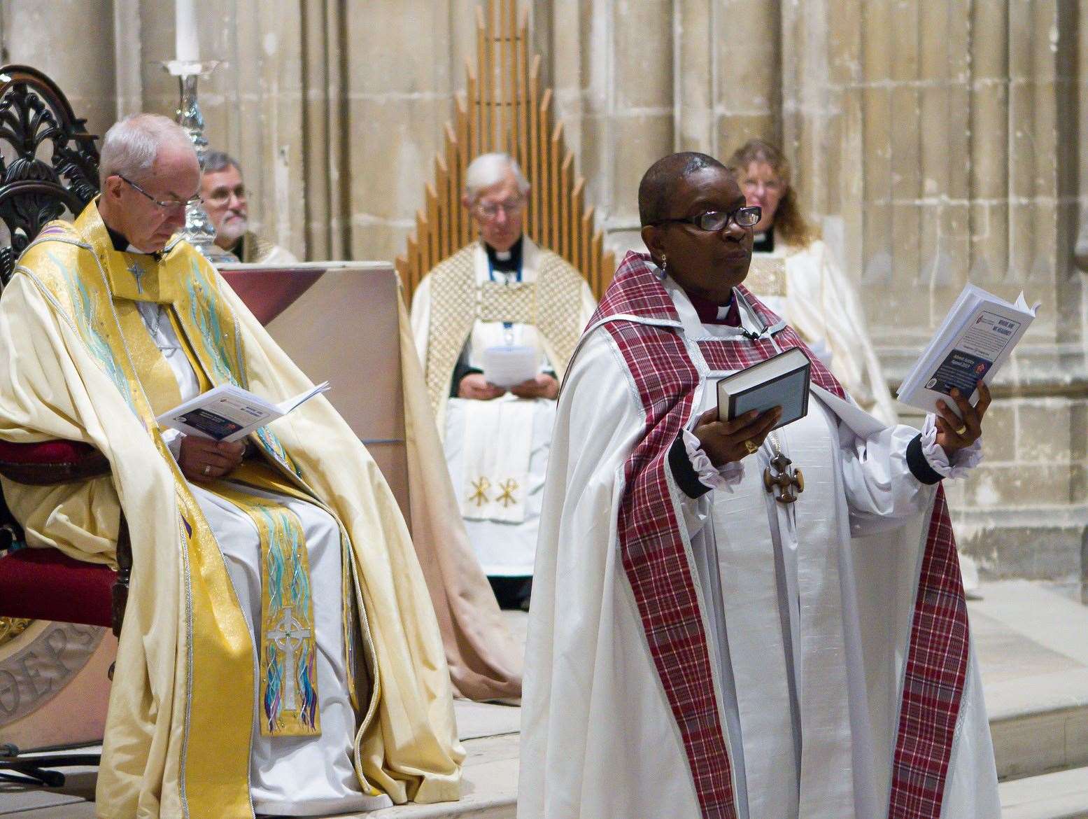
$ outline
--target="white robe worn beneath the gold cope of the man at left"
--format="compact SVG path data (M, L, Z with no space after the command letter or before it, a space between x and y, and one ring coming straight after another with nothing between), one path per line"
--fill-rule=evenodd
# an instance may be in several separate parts
M200 387L196 374L164 308L152 302L137 302L136 307L177 379L182 401L198 395ZM163 435L175 457L182 438L184 436L176 430ZM257 526L230 501L199 484L189 486L223 552L227 574L238 596L254 645L259 646L261 549ZM263 736L258 713L254 712L249 767L254 809L268 816L324 816L390 806L393 803L388 796L366 796L362 793L353 763L357 720L347 689L349 672L344 650L339 526L327 512L312 503L258 491L240 484L233 486L248 494L272 498L298 516L306 536L318 647L321 734ZM256 660L254 668L259 668ZM256 679L254 685L258 685ZM259 700L257 697L256 701Z

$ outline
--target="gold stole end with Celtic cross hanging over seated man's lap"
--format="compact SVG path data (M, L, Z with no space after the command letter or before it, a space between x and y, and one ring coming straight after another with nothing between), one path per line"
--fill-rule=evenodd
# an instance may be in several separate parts
M261 539L261 735L316 736L318 645L302 523L277 501L222 485L215 493L249 515Z

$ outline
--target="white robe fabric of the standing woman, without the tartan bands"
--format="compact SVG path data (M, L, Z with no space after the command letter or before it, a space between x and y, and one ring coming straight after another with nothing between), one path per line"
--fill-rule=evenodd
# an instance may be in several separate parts
M703 326L666 280L714 402ZM745 317L750 330L757 329ZM708 389L708 384L712 389ZM623 466L645 433L609 333L583 340L559 398L526 649L519 819L698 817L679 729L618 546ZM689 425L690 426L690 425ZM776 432L805 476L768 494L768 439L740 482L690 499L669 473L742 819L887 816L903 661L932 505L905 461L917 435L814 387ZM997 817L997 775L970 649L942 816Z

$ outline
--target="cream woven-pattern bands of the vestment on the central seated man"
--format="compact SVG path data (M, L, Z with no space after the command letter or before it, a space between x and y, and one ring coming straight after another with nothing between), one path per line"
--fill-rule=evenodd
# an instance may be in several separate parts
M582 327L584 280L549 250L536 253L536 280L532 282L475 282L478 243L462 247L431 272L431 323L426 339L425 379L431 407L449 396L449 379L472 325L514 321L532 325L553 355L560 379L574 353Z

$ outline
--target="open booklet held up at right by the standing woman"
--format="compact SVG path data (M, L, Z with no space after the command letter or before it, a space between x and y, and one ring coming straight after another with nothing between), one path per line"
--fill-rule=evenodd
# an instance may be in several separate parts
M1035 319L1039 305L1028 307L1021 293L1015 304L967 284L944 322L899 388L908 406L937 412L942 400L956 415L952 388L974 404L979 381L989 384Z

